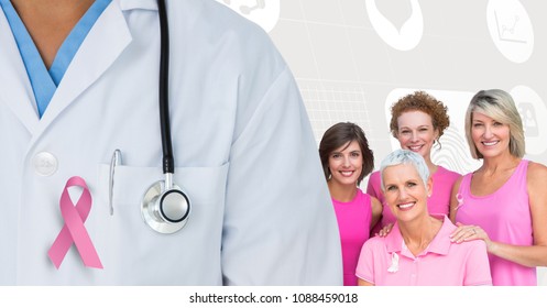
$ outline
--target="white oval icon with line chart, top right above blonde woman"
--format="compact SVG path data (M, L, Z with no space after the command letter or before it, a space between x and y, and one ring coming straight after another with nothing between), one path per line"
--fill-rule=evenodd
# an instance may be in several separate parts
M534 51L534 29L518 0L490 0L486 8L490 36L504 57L526 62Z

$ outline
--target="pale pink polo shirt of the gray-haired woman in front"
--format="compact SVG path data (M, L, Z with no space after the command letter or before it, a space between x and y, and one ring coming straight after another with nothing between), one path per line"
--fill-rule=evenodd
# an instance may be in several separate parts
M414 256L398 224L385 238L363 244L355 275L376 286L478 286L491 285L486 245L483 241L450 242L456 226L445 216L431 243Z

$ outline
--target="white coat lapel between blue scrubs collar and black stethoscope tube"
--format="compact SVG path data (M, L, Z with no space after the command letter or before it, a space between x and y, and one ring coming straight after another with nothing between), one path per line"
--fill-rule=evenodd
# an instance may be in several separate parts
M132 37L118 2L110 3L68 66L40 127L44 130L112 65ZM37 138L37 134L35 135Z

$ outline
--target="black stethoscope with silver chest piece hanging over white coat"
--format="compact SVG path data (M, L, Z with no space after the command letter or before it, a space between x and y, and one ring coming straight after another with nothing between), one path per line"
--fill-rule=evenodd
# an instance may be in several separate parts
M141 202L141 215L150 228L160 233L175 233L180 230L190 213L190 200L173 182L175 160L169 127L168 106L168 68L169 68L169 33L165 0L157 0L160 13L160 127L162 131L163 173L165 180L154 183L144 193Z

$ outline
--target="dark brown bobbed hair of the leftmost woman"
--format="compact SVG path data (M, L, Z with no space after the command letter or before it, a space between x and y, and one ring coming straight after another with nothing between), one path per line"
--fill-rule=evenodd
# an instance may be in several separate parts
M330 127L330 129L325 132L321 142L319 143L319 157L321 158L322 170L327 180L331 176L329 169L329 155L340 146L346 144L349 145L352 141L357 141L363 157L363 167L357 184L360 185L361 180L363 180L363 178L374 168L374 154L369 147L369 141L367 140L363 130L354 123L340 122Z

